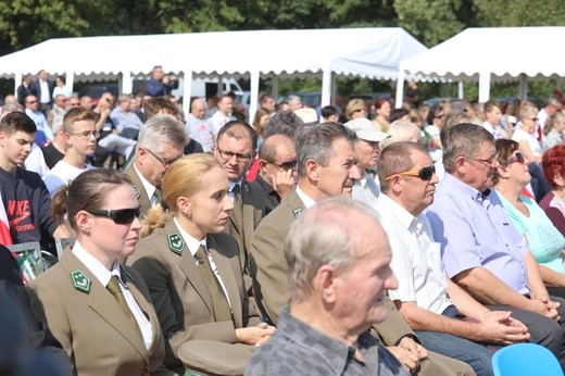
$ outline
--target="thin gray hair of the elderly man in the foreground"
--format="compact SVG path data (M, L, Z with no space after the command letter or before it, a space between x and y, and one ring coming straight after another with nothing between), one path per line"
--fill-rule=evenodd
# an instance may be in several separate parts
M380 218L368 205L346 197L323 200L298 217L285 239L285 258L289 265L292 301L302 301L312 291L312 280L323 265L343 274L355 261L359 237L349 225L353 214L377 224Z

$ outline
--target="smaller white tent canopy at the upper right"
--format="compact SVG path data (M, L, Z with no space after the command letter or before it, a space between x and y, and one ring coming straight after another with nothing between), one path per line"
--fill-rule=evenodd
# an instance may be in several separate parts
M526 77L558 78L565 75L557 40L565 27L467 28L444 42L400 63L397 103L402 103L404 77L420 74L431 79L478 82L479 102L489 99L491 82L520 80L526 96Z

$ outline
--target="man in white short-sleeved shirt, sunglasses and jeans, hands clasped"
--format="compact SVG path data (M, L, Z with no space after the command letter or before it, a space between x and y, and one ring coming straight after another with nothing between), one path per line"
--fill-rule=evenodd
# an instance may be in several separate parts
M426 148L391 143L377 171L382 226L393 255L390 266L399 280L390 298L426 349L466 362L477 375L492 375L494 352L481 343L522 342L528 330L510 312L489 311L443 274L440 243L423 214L439 181Z

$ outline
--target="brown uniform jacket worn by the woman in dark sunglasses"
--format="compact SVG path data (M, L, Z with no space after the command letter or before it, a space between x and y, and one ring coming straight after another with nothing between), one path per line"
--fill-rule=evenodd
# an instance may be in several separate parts
M71 276L76 271L90 279L87 292L76 288ZM68 248L56 265L29 285L34 313L47 322L78 375L166 374L165 344L149 291L141 276L127 266L122 279L151 323L149 350L112 293Z

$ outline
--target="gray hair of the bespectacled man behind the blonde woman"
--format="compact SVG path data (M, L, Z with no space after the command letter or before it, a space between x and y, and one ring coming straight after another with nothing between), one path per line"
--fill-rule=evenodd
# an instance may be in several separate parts
M188 143L185 125L171 115L154 115L139 131L137 147L149 148L154 153L163 152L166 143L185 147Z

